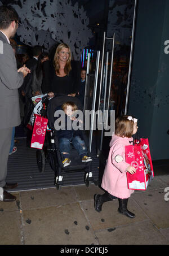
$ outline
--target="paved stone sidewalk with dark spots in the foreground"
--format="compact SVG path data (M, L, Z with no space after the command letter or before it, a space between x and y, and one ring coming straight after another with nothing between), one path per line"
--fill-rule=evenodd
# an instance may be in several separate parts
M145 192L128 201L130 219L118 214L118 200L94 209L98 186L13 192L0 202L1 245L169 245L169 175L155 176ZM164 199L164 196L168 201Z

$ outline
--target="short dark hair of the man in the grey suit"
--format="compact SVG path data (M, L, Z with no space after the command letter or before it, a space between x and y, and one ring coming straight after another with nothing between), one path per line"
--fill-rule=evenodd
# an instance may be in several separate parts
M15 9L11 6L0 6L0 29L7 29L14 20L19 20L19 16Z

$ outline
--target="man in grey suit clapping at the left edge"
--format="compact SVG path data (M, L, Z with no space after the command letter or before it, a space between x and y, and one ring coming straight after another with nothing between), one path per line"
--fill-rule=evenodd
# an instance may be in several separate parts
M0 201L15 201L16 197L5 189L17 183L6 183L7 162L12 128L20 124L18 88L30 72L25 66L17 70L16 58L9 38L14 37L19 16L12 7L0 6Z

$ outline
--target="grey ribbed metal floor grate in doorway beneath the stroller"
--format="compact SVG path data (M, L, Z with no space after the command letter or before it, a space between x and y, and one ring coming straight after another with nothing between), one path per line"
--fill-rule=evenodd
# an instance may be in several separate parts
M19 144L16 153L8 158L7 182L19 185L12 191L31 190L41 188L52 188L54 185L54 171L50 164L46 163L45 172L41 173L37 167L36 149L26 147L26 139L19 138ZM96 157L95 145L92 147L92 174L94 180L99 179L99 158ZM64 174L64 185L81 185L84 184L84 172L68 172Z

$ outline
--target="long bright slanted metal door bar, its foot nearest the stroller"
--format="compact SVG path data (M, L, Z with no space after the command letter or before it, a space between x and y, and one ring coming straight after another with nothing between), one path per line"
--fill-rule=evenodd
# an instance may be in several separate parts
M92 112L92 116L91 116L91 127L90 127L89 143L88 143L88 147L90 149L90 152L91 152L92 135L93 135L93 129L94 129L96 93L97 93L97 80L98 80L98 73L99 73L99 60L100 60L100 51L97 51L95 83L94 83L94 98L93 98L93 102L92 102L92 110L93 110L93 112Z

